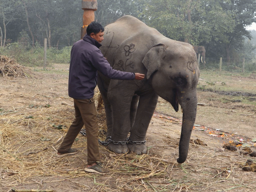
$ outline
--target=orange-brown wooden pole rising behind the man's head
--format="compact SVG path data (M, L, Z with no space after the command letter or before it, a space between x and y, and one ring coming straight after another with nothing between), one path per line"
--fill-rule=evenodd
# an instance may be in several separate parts
M96 11L97 8L97 0L82 0L83 26L81 27L81 39L86 34L87 26L94 21L94 11Z

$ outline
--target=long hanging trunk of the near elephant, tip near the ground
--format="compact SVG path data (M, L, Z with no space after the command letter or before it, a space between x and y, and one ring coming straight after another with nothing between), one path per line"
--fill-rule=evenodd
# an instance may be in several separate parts
M192 94L193 95L193 94ZM189 141L193 126L196 120L196 110L197 110L197 97L196 93L193 97L183 97L185 101L181 103L183 110L182 118L182 129L179 141L179 158L178 163L184 163L188 155Z

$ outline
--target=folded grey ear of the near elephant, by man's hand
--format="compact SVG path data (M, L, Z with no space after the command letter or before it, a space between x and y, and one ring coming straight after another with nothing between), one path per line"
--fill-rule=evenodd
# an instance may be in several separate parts
M165 47L166 46L162 43L154 45L142 60L142 63L147 69L147 79L149 79L150 76L160 68L160 59Z

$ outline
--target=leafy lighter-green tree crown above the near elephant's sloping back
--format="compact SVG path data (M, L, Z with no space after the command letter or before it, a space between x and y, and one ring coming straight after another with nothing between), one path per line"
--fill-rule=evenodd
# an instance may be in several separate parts
M213 0L150 0L142 14L163 35L195 45L223 38L223 31L233 29L230 13Z

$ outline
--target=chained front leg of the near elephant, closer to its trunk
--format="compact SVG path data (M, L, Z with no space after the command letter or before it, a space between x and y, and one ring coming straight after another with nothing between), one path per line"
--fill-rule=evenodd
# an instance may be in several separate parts
M145 154L147 147L145 141L148 125L151 121L156 108L158 95L153 91L151 93L140 95L135 123L131 129L130 142L128 143L129 151L138 155Z

